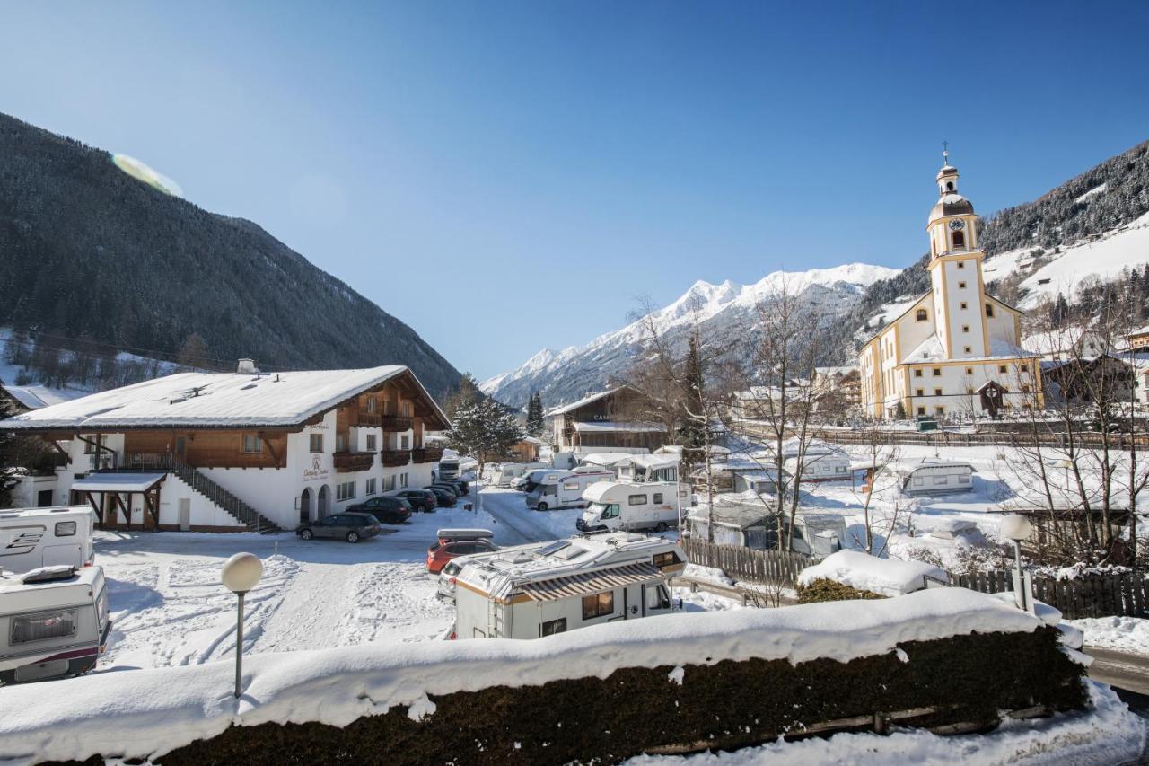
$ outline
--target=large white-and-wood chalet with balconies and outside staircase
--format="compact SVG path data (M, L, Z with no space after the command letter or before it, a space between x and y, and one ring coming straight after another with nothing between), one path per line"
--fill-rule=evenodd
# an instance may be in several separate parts
M423 487L446 415L406 367L179 373L0 421L61 455L56 503L106 527L293 529Z

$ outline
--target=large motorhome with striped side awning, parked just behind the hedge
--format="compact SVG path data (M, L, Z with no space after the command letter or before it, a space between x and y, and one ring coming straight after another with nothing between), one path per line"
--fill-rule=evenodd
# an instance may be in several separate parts
M674 611L677 543L626 533L472 556L455 575L454 638L541 638Z

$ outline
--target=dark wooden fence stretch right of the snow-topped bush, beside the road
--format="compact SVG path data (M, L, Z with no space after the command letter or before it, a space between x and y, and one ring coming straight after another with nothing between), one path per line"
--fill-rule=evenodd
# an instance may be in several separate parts
M1013 590L1008 569L950 575L950 584L982 593ZM1141 574L1095 574L1073 580L1034 577L1033 597L1067 620L1092 616L1149 616L1149 581Z

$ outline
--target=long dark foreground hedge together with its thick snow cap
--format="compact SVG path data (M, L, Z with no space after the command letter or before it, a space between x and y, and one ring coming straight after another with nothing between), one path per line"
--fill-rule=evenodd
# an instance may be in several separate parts
M987 661L992 658L992 661ZM617 761L741 746L803 725L940 706L916 722L1081 706L1056 630L951 588L877 602L679 614L543 639L345 646L233 666L0 689L10 763ZM194 743L194 744L191 744ZM9 761L6 761L9 763Z

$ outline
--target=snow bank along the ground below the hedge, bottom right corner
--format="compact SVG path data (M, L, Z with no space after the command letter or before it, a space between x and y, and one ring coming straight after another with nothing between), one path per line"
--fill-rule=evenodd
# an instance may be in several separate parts
M640 756L629 766L750 766L777 764L917 764L986 766L1075 764L1109 766L1135 763L1146 744L1146 721L1104 684L1089 683L1093 710L1059 713L1049 719L1011 721L989 734L942 737L925 730L878 734L835 734L826 740L772 742L734 752L705 752L685 757Z

